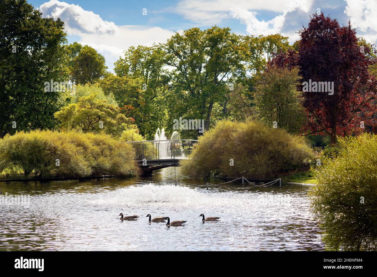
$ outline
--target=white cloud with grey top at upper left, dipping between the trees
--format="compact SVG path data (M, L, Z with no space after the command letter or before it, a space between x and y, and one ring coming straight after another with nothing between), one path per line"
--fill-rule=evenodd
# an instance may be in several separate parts
M162 43L174 32L159 27L118 26L103 20L92 11L85 11L78 5L70 5L58 0L51 0L40 6L44 17L60 17L68 35L80 37L80 43L96 49L106 58L110 70L113 63L123 55L130 46L151 46Z

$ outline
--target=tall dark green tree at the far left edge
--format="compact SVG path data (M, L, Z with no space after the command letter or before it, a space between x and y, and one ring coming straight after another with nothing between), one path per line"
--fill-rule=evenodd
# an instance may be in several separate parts
M2 0L0 14L0 137L53 128L61 92L44 82L67 81L64 23L26 0Z

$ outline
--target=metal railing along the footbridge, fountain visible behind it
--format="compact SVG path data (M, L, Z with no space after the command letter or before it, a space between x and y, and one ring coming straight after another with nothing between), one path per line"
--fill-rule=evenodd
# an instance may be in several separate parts
M198 143L193 139L168 139L164 141L130 141L135 149L135 159L141 161L160 159L188 159Z

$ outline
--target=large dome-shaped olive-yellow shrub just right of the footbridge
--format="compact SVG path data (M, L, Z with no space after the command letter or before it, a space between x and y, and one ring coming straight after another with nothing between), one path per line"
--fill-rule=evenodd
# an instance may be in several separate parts
M311 157L311 149L302 137L255 121L224 120L199 138L190 160L181 164L184 174L196 178L216 171L229 178L268 179L299 168Z

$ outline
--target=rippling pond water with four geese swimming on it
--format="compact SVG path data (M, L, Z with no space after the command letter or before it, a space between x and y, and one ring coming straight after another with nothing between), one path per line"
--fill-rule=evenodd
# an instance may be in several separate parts
M310 212L310 185L198 188L174 168L151 177L86 181L0 182L0 250L323 250ZM221 181L217 181L218 183ZM224 185L225 186L225 185ZM30 195L27 198L26 195ZM29 199L29 201L28 201ZM139 215L123 221L118 214ZM199 214L221 217L202 223ZM187 220L167 228L152 217Z

